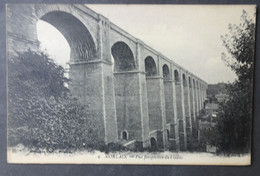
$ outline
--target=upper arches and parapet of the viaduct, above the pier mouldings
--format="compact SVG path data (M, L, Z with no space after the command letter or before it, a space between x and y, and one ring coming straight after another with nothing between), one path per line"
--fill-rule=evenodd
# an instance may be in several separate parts
M71 63L88 62L91 60L103 60L111 63L111 48L115 50L113 56L117 57L116 49L124 49L125 59L121 62L132 62L131 67L120 68L115 62L117 71L145 71L144 60L151 57L156 65L157 76L163 76L163 66L166 65L170 71L169 78L174 78L174 70L179 75L185 74L186 77L195 81L195 86L201 89L207 88L207 83L189 72L185 68L176 64L173 60L162 55L160 52L149 47L141 40L128 34L123 29L111 23L106 17L92 11L85 5L8 5L17 8L13 12L9 11L10 17L18 17L23 21L21 25L7 25L7 33L12 37L27 40L38 45L36 23L38 20L46 21L55 26L67 39L71 47ZM15 6L15 7L14 7ZM24 11L28 16L23 16L20 11ZM14 14L15 13L15 14ZM14 18L13 18L14 19ZM16 19L13 23L17 23ZM31 20L31 21L30 21ZM30 21L31 30L25 30L27 26L23 24ZM17 35L17 30L21 35ZM34 31L32 33L32 31ZM15 35L15 36L13 36ZM24 45L24 44L23 44ZM79 46L80 45L80 46ZM15 50L25 49L26 46L15 48ZM31 47L32 48L32 47ZM88 52L85 52L88 51ZM119 60L120 62L120 60ZM166 68L166 67L165 67ZM193 84L193 83L192 83Z

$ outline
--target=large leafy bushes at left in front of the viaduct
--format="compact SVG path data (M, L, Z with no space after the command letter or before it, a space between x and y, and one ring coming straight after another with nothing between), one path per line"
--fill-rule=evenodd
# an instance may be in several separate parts
M31 151L110 150L98 140L100 123L64 86L64 69L43 53L8 60L8 145Z

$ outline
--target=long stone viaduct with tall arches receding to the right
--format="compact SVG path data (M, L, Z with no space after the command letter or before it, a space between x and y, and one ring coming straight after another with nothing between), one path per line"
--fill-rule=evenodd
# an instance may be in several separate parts
M36 23L71 48L72 93L102 125L101 140L186 150L207 83L85 5L8 4L7 57L39 49Z

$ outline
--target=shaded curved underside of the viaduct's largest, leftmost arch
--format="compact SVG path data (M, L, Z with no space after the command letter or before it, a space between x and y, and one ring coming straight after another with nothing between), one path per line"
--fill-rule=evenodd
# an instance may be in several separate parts
M96 59L97 53L94 40L86 26L79 19L66 12L52 11L43 15L40 20L54 26L66 38L70 46L71 62Z

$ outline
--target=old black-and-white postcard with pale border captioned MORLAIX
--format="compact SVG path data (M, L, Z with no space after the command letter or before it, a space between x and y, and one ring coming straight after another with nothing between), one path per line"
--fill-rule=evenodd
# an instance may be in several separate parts
M255 5L6 13L9 163L251 164Z

